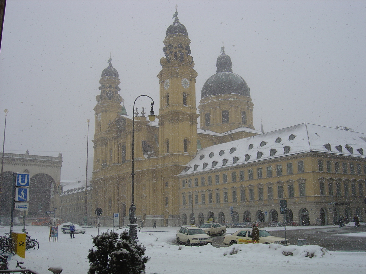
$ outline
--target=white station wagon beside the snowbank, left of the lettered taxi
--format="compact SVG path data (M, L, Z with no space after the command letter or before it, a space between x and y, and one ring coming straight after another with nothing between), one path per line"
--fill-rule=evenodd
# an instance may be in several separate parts
M207 235L199 227L182 227L176 235L177 243L184 243L187 246L202 246L212 242L211 236Z

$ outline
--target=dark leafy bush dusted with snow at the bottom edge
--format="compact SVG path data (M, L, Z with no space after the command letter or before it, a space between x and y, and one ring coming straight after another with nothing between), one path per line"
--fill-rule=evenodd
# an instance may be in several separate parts
M133 240L127 231L121 234L104 232L93 237L96 247L89 250L87 258L88 274L140 274L145 271L145 263L150 259L145 255L145 247Z

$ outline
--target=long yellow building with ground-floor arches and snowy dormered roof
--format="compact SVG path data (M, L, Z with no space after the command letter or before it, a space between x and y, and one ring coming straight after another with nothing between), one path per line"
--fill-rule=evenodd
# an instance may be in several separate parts
M347 144L344 141L347 140ZM182 224L365 219L366 134L301 124L210 146L178 175Z

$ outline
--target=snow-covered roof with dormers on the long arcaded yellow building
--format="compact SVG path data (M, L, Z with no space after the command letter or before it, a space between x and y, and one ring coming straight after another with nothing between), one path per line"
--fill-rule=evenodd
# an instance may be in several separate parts
M310 151L366 158L366 134L302 123L200 149L180 175Z

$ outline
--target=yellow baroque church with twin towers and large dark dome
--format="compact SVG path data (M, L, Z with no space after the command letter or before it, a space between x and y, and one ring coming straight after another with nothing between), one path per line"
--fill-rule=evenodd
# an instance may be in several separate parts
M165 57L160 60L162 69L157 75L158 122L148 121L143 111L133 114L138 224L180 225L177 175L197 155L197 149L262 133L253 126L250 89L242 77L232 72L231 58L224 49L217 58L217 73L202 88L197 114L197 72L190 42L186 27L176 17L166 31ZM103 209L102 225L111 225L115 212L120 213L121 225L129 224L132 117L121 106L118 77L109 60L99 81L100 94L94 108L93 203L95 208Z

